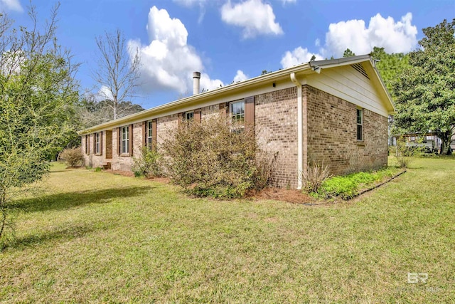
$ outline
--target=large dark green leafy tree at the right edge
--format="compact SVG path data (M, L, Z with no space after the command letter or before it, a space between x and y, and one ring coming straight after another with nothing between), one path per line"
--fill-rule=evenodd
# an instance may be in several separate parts
M455 126L455 19L423 29L422 49L409 54L410 67L393 86L396 132L432 131L441 153L450 154Z

